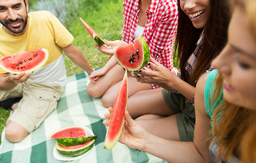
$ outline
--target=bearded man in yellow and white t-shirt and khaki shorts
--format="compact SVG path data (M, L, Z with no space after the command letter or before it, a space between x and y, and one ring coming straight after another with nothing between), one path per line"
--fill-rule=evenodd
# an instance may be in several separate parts
M0 0L0 56L46 48L46 64L33 73L12 74L0 69L0 101L21 96L6 122L5 137L22 141L56 108L66 82L62 51L79 67L92 69L74 37L50 12L30 12L27 0Z

